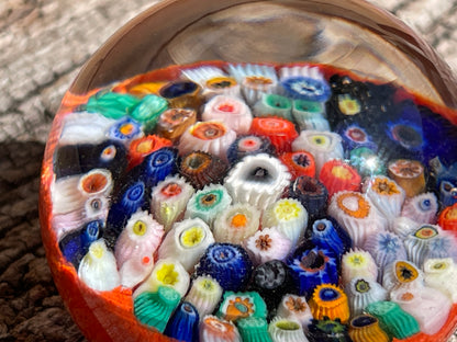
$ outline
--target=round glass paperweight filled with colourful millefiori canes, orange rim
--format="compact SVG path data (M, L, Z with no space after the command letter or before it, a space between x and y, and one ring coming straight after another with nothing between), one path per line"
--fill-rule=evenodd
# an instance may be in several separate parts
M54 119L57 288L90 341L446 341L456 109L445 62L369 3L163 1Z

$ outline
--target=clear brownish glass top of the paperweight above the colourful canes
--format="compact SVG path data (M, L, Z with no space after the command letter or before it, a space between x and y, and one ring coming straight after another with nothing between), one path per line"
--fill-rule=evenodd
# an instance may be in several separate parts
M411 29L364 1L164 1L114 34L71 91L200 60L330 64L457 107L449 67Z

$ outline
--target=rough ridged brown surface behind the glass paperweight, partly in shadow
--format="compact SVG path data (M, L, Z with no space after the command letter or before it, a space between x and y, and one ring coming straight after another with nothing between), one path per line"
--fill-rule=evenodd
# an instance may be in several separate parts
M0 1L0 341L85 341L58 296L40 238L40 166L53 115L79 67L156 1ZM457 70L457 0L372 1Z

